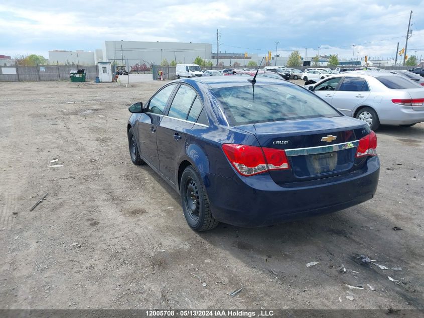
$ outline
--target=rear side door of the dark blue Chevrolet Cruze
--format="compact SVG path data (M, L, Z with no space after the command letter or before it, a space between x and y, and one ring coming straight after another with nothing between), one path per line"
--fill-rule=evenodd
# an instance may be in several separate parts
M178 158L184 151L187 133L202 111L203 104L196 91L181 84L170 104L167 115L158 127L158 154L161 173L177 183Z

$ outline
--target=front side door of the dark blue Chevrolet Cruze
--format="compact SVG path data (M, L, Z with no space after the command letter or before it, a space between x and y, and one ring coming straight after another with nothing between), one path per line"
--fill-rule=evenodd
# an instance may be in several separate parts
M176 86L171 84L159 90L149 100L146 111L138 119L138 149L144 159L156 169L159 169L156 131Z

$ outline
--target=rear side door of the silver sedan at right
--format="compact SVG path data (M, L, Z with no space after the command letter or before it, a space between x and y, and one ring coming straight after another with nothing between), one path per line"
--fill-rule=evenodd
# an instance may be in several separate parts
M345 76L334 92L331 104L343 114L353 116L353 110L363 103L369 94L369 85L364 78Z

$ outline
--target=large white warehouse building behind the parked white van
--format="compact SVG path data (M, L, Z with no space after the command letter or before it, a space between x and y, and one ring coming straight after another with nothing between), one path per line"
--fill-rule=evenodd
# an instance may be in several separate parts
M163 59L192 63L197 56L210 59L211 55L212 44L209 43L105 41L103 46L103 61L127 66L137 63L160 65Z

